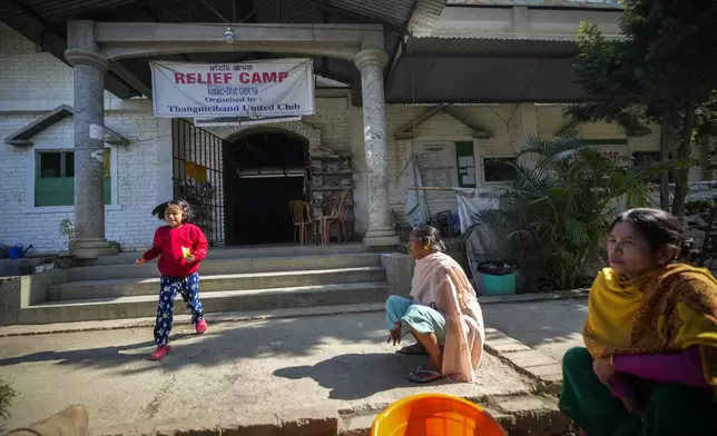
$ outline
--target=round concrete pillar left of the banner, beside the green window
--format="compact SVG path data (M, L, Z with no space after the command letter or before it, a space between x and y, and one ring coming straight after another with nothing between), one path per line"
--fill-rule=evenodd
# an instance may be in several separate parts
M105 238L105 72L107 59L89 48L69 48L73 69L75 247L78 259L115 254Z

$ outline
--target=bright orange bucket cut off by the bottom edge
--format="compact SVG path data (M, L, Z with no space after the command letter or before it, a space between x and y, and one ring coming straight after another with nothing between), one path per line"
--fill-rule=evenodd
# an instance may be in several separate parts
M422 394L386 407L371 427L371 436L507 436L480 406L443 394Z

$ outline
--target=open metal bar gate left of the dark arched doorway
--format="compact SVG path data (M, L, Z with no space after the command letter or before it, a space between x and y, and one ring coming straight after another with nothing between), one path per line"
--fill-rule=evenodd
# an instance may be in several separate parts
M184 119L171 120L175 198L186 200L210 246L225 242L224 140Z

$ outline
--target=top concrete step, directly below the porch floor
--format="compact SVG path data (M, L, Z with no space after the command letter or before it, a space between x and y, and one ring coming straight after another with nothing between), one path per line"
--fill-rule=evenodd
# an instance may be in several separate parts
M96 281L108 279L156 278L157 264L151 262L139 268L131 267L137 256L124 265L76 267L69 270L69 281ZM289 257L253 257L234 259L207 258L202 262L199 274L203 276L230 275L245 272L301 271L315 269L337 269L357 267L377 267L381 255L353 252L338 255L308 255Z

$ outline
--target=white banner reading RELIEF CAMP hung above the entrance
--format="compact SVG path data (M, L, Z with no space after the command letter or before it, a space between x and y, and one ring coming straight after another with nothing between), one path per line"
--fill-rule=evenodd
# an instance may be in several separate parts
M156 117L262 118L314 113L311 59L150 63Z

